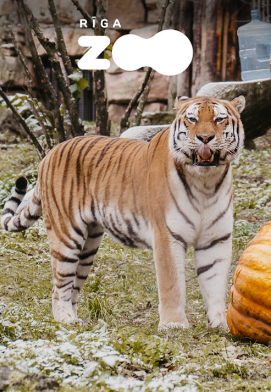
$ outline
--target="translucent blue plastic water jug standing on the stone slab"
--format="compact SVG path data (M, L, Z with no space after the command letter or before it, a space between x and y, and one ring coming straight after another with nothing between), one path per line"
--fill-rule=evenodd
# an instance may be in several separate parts
M271 23L261 22L251 11L251 22L237 30L242 80L271 78Z

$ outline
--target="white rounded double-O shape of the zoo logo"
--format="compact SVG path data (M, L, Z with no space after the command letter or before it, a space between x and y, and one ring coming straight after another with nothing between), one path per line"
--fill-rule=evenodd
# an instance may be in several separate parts
M187 69L193 58L193 47L185 34L169 29L151 38L123 35L115 42L112 56L125 71L147 66L160 74L173 76Z

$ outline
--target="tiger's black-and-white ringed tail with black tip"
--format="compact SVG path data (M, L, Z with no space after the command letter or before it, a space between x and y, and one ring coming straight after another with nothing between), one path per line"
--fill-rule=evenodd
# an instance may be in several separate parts
M17 178L15 189L4 204L1 225L7 231L25 230L42 216L38 186L27 192L27 185L25 177Z

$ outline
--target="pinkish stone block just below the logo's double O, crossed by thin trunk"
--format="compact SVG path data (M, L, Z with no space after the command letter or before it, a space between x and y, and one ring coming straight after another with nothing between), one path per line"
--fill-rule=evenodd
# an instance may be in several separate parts
M110 103L128 103L140 87L145 77L144 72L126 71L122 74L105 74ZM147 102L166 102L168 77L155 73Z

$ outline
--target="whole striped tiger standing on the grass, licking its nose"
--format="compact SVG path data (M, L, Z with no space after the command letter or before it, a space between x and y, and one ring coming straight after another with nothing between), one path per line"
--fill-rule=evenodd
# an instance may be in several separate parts
M56 321L77 320L79 291L104 233L123 245L151 248L159 328L188 328L185 256L194 247L207 327L226 326L231 264L231 162L243 147L243 96L178 96L172 124L149 142L78 136L40 162L34 191L19 177L1 224L17 232L40 216L48 233ZM20 204L23 207L20 208Z

